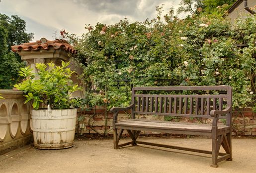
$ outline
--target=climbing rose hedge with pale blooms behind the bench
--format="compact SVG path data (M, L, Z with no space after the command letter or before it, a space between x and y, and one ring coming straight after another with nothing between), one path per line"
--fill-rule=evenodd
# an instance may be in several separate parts
M76 48L89 105L126 106L135 86L230 85L234 108L255 102L255 16L232 25L215 14L180 20L171 10L164 23L157 12L151 21L86 26Z

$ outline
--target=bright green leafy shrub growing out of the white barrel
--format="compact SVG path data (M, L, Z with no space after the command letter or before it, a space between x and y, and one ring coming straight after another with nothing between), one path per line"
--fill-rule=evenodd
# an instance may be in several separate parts
M19 75L25 79L15 85L17 89L23 90L26 101L33 101L33 108L38 109L40 103L50 104L52 109L67 109L76 105L79 100L70 99L70 94L79 89L70 80L74 73L67 68L70 62L62 61L62 66L55 66L54 63L36 64L38 74L32 73L30 67L21 68ZM49 70L46 70L49 68Z

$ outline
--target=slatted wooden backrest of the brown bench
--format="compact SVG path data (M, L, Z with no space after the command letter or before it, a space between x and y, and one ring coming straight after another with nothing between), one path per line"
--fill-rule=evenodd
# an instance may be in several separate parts
M135 114L212 118L211 110L223 110L232 106L232 88L133 87L132 103L135 105L132 110L133 118ZM219 118L230 119L227 116Z

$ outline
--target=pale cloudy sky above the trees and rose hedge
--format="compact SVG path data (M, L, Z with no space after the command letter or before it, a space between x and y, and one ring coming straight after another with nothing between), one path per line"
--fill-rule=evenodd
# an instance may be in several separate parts
M85 24L114 24L127 17L130 22L156 17L156 6L177 9L180 0L1 0L0 13L18 15L26 21L34 40L52 40L54 31L65 29L81 36ZM184 14L183 14L184 16ZM182 17L182 14L181 14Z

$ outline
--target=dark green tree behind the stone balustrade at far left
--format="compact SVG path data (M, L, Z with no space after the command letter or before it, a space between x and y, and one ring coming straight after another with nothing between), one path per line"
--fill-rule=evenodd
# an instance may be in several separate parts
M33 34L26 33L25 28L26 22L17 15L0 14L0 88L12 88L20 79L18 71L25 63L17 53L11 52L11 45L33 39Z

